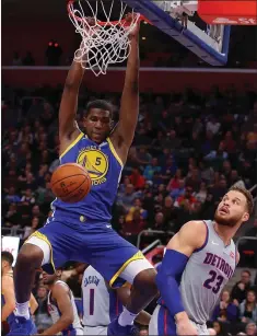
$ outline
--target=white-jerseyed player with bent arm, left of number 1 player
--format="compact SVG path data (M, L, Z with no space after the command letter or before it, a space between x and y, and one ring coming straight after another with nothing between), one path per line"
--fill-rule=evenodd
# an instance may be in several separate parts
M54 324L40 335L58 335L59 333L63 336L83 335L73 293L60 278L60 268L54 275L43 271L44 285L47 285L49 289L48 312Z

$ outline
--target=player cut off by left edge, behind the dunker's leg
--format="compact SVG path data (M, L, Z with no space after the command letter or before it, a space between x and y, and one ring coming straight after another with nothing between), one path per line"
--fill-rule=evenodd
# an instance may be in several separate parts
M1 252L1 274L2 274L2 292L1 292L1 305L2 305L2 315L1 321L4 325L5 323L11 326L14 321L14 309L15 309L15 294L14 294L14 283L13 283L13 255L8 251ZM31 294L30 299L30 309L31 314L33 315L36 311L38 304L33 294Z

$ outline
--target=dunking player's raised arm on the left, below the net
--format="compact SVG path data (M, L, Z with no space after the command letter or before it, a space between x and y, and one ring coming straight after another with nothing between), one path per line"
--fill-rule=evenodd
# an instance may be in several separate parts
M66 79L59 109L60 154L80 135L75 121L78 96L84 69L80 62L73 61Z

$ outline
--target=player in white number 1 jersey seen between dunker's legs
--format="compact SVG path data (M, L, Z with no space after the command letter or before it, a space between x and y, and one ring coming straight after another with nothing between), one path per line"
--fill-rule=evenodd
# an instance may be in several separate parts
M81 283L83 294L84 335L107 335L108 324L126 306L130 286L109 288L101 274L92 266L86 266ZM141 325L149 325L151 315L141 311L136 318Z

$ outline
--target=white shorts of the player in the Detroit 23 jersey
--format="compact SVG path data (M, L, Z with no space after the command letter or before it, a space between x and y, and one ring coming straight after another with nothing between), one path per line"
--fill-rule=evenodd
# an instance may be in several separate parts
M190 321L197 328L198 335L209 335L206 324L197 324ZM157 304L155 308L150 324L149 324L149 335L153 336L164 336L164 335L176 335L176 324L170 315L167 315L167 310Z

